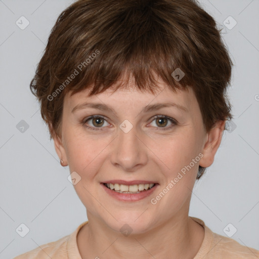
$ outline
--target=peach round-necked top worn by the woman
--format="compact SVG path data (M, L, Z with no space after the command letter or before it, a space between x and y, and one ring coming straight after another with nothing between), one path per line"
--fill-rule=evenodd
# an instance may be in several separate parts
M256 259L259 251L239 244L234 239L213 233L200 219L193 218L205 229L205 236L198 253L193 259ZM76 236L80 228L88 224L82 223L70 235L57 241L40 245L29 252L13 259L82 259L78 251Z

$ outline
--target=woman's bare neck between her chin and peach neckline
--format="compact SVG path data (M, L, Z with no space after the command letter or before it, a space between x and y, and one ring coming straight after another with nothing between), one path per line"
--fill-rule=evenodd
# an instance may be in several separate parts
M89 223L78 233L82 258L193 258L204 238L204 229L188 213L181 213L141 234L124 236L88 213Z

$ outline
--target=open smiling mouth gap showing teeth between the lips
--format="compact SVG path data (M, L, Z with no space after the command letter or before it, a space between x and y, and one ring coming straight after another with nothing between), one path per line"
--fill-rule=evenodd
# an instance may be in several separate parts
M123 185L117 183L103 183L103 185L117 193L128 193L128 194L137 194L141 192L146 192L152 188L154 188L157 184L134 184L134 185Z

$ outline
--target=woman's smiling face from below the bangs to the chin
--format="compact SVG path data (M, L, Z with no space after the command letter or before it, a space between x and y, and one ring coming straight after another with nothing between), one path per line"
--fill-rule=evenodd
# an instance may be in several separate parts
M89 220L116 231L128 224L142 233L188 215L198 166L212 163L212 140L219 136L208 138L192 89L159 87L155 95L133 87L65 96L55 148L69 165Z

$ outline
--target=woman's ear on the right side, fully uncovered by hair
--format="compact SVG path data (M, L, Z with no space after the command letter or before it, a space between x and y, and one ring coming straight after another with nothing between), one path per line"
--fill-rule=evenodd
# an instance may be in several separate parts
M215 153L221 144L225 122L225 120L219 120L207 133L207 140L202 150L203 157L200 159L199 163L200 166L208 167L213 163Z

